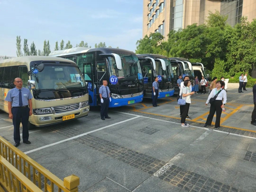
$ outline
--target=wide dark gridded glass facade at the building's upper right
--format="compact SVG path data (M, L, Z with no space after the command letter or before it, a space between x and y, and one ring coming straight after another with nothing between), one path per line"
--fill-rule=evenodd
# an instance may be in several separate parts
M228 15L227 23L231 26L240 22L243 0L221 0L221 15Z

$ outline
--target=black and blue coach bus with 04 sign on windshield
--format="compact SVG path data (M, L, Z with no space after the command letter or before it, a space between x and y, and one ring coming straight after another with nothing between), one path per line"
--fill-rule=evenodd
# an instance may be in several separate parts
M142 67L144 81L144 98L153 98L152 83L158 78L158 98L170 97L174 94L174 78L170 60L159 54L137 54Z

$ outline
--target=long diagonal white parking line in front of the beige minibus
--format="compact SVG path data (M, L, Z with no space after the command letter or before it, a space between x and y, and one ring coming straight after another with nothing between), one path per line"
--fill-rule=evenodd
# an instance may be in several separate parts
M41 149L44 149L44 148L47 148L47 147L50 147L50 146L54 146L54 145L57 145L57 144L60 144L60 143L63 143L63 142L66 142L66 141L69 141L69 140L72 140L72 139L76 139L76 138L82 137L82 136L84 136L84 135L88 135L88 134L93 133L93 132L96 132L96 131L100 131L100 130L102 130L102 129L106 129L106 128L108 128L108 127L112 127L112 126L114 126L114 125L118 125L118 124L121 124L121 123L125 123L125 122L127 122L127 121L131 121L131 120L136 119L136 118L139 118L139 117L142 117L142 116L136 116L136 117L133 117L133 118L129 118L129 119L127 119L127 120L120 121L120 122L118 122L118 123L114 123L114 124L111 124L111 125L107 125L107 126L105 126L105 127L102 127L102 128L99 128L99 129L95 129L95 130L93 130L93 131L89 131L89 132L86 132L86 133L83 133L83 134L80 134L80 135L76 135L76 136L74 136L74 137L72 137L72 138L64 139L64 140L61 140L61 141L56 142L56 143L52 143L52 144L48 144L48 145L45 145L45 146L42 146L42 147L39 147L39 148L35 148L35 149L33 149L33 150L30 150L30 151L27 151L27 152L24 152L24 153L25 153L25 154L29 154L29 153L32 153L32 152L35 152L35 151L38 151L38 150L41 150Z

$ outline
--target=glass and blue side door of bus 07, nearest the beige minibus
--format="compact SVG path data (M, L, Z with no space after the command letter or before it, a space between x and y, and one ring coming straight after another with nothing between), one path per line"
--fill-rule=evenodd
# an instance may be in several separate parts
M92 63L84 63L83 64L83 76L84 80L87 83L87 88L89 92L89 103L90 106L95 106L95 97L96 94L96 85L93 80L93 66Z

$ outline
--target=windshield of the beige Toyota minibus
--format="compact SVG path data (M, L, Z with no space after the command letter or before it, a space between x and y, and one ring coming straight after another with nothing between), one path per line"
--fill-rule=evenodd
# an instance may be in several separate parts
M43 71L32 72L31 80L36 82L33 90L36 99L69 98L88 93L83 75L74 66L46 64Z

